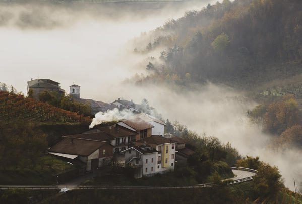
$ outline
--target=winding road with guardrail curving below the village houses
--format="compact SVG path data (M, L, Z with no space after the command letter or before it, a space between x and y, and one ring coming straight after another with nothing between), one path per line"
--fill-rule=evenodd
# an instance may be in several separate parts
M232 169L232 171L237 176L226 179L226 180L233 180L231 184L250 181L256 175L256 172L250 172L250 171L255 171L252 169L244 169L244 170ZM181 188L205 188L205 187L212 187L212 186L213 185L211 183L204 183L204 184L191 185L191 186L0 185L0 189L1 190L9 190L13 188L21 188L21 189L29 189L29 190L61 189L62 191L67 191L67 190L74 190L74 189L181 189Z

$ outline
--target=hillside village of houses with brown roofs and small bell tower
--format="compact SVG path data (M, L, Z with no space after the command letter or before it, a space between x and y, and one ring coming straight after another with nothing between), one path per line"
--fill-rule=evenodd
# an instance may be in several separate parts
M65 94L59 83L50 79L35 79L27 84L28 91L31 90L37 100L45 90ZM120 98L110 104L84 99L76 84L70 86L69 94L79 103L89 102L92 114L113 109L127 109L133 113L130 118L113 124L100 124L86 132L63 135L48 148L49 155L79 166L78 175L89 172L96 175L99 169L114 163L133 168L134 178L150 177L186 166L187 158L194 153L186 147L184 139L165 132L163 121L144 113L145 105Z

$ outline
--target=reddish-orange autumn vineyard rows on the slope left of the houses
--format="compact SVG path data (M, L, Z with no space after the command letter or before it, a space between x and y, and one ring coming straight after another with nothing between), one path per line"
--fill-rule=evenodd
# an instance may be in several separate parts
M24 95L0 91L0 120L6 124L17 120L38 122L80 122L89 124L90 117L59 109L41 101L25 98Z

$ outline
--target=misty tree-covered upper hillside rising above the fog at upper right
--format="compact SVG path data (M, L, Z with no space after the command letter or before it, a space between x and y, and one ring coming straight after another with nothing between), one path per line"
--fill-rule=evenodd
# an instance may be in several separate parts
M302 2L223 0L187 12L150 35L146 53L168 47L143 79L224 83L251 88L301 73Z

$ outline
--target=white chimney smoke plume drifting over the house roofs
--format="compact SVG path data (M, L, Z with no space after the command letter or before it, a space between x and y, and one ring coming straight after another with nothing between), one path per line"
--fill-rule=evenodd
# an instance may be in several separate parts
M123 109L119 111L118 109L107 110L106 112L98 112L95 114L95 117L92 119L89 128L93 128L95 125L102 124L104 122L110 121L119 121L122 119L128 119L133 116L133 113L128 109Z

